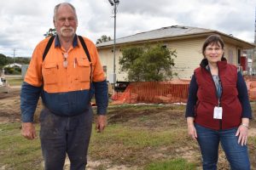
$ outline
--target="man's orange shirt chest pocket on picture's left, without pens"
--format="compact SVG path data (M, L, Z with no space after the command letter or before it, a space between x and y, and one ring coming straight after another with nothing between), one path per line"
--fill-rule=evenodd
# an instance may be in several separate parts
M57 77L58 77L58 66L56 63L45 63L43 65L43 78L44 78L44 84L55 84L57 83Z

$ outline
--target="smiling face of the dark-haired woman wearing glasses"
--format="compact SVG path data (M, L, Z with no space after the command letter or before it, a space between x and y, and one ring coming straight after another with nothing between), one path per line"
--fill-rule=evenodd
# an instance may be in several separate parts
M224 54L224 49L221 47L220 43L211 43L205 49L205 57L208 63L216 64L220 61Z

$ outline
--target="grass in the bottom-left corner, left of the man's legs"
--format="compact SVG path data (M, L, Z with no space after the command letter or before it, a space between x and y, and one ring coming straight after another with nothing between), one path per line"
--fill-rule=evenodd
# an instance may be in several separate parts
M0 150L0 167L42 169L39 139L24 139L20 134L20 123L0 124Z

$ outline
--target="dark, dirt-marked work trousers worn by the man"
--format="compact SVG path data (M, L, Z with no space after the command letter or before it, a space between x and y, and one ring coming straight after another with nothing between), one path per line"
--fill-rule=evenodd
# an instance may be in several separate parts
M91 107L78 116L56 116L44 108L39 120L44 169L62 170L66 154L70 169L85 169L92 124Z

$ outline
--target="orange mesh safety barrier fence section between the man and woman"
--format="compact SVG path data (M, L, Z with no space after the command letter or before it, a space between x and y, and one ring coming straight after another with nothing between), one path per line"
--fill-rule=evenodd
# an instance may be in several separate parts
M124 93L113 94L113 104L186 102L189 82L131 82Z

